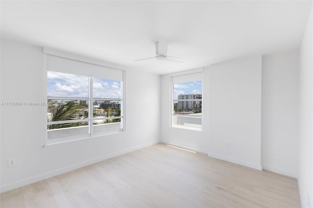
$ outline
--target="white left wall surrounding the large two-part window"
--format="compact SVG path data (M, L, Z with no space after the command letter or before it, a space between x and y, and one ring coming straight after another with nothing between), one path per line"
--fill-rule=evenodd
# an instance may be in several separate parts
M1 39L0 82L1 102L43 102L42 47ZM1 106L1 191L158 143L160 76L126 71L125 100L125 132L45 148L42 107Z

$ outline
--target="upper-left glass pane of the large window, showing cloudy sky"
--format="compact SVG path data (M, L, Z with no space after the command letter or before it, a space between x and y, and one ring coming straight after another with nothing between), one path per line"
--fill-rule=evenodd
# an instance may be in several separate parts
M54 71L47 72L48 97L88 98L88 77Z

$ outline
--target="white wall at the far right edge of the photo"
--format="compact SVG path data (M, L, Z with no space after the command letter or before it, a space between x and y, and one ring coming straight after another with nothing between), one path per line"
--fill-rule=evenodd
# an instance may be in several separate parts
M301 206L313 207L313 6L300 48L299 178ZM310 197L308 197L310 195ZM309 199L310 198L310 205Z

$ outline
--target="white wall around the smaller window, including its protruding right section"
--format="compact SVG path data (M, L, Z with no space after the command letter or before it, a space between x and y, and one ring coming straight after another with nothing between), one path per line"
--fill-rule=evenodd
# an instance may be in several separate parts
M170 77L162 76L162 142L260 169L261 56L205 67L202 84L203 131L175 128L169 124Z

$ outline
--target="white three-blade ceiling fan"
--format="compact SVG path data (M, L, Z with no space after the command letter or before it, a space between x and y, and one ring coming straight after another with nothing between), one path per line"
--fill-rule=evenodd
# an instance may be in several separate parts
M168 56L167 55L167 42L159 39L158 42L156 42L156 56L149 57L149 58L143 58L143 59L137 59L134 60L137 61L144 61L148 59L157 59L157 60L165 60L165 61L171 61L171 62L186 62L187 59L182 59L174 56Z

